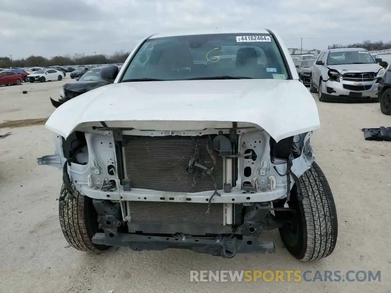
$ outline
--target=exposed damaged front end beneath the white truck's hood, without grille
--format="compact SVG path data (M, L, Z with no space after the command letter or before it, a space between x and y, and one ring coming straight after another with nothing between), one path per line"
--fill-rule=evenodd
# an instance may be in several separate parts
M56 135L56 155L38 164L62 168L70 193L74 185L93 198L95 244L224 257L274 252L260 236L285 224L272 212L288 205L273 202L289 201L314 161L311 132L276 142L252 123L215 124L142 130L102 123Z

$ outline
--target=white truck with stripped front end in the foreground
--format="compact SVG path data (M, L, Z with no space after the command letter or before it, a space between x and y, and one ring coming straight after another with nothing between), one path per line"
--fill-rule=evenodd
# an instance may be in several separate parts
M219 65L210 51L225 46L236 58ZM231 258L273 253L260 237L278 228L301 261L333 252L335 203L310 145L317 106L272 30L156 34L101 76L115 82L48 118L56 154L37 159L62 173L72 247Z

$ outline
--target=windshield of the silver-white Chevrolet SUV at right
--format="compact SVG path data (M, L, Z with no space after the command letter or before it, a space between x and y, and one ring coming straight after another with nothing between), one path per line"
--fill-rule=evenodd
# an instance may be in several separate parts
M373 63L376 63L375 59L367 51L331 52L327 57L327 65Z

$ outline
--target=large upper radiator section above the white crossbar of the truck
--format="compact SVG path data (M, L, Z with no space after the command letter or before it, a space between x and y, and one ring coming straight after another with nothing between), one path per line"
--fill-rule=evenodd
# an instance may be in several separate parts
M215 135L211 136L212 141ZM213 160L206 148L207 135L198 138L198 148L204 166L212 168ZM124 135L124 176L132 188L157 191L200 192L214 190L210 175L186 175L188 163L195 149L191 136L129 136ZM213 151L216 164L213 178L218 189L223 189L223 160Z

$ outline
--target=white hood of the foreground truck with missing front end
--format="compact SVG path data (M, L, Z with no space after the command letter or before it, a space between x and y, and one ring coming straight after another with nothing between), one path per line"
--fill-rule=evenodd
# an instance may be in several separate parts
M314 98L300 81L240 79L109 84L58 107L46 127L66 138L88 122L164 120L249 122L276 141L320 126Z

